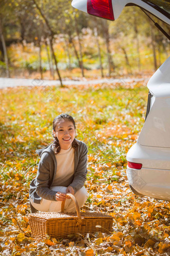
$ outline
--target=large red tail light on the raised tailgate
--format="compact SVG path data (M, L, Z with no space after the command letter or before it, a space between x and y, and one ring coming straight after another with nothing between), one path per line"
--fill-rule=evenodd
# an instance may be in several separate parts
M87 0L87 13L114 21L111 0Z

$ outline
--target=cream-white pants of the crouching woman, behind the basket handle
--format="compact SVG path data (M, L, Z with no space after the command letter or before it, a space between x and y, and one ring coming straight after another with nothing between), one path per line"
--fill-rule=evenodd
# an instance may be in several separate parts
M59 191L62 193L66 193L66 187L51 187L50 188L52 191ZM75 193L75 198L78 202L79 207L81 207L87 197L87 191L85 189L85 187L83 186L82 188L80 188L76 193ZM40 204L36 204L32 201L32 199L30 199L31 205L38 211L48 211L48 212L61 212L61 201L49 201L46 200L44 198L42 198ZM65 205L64 205L64 212L75 212L75 206L74 203L71 199L66 199L65 200Z

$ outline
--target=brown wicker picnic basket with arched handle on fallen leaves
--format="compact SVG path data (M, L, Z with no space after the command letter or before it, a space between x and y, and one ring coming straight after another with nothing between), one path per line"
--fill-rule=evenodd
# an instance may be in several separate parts
M88 232L109 232L112 227L112 217L96 212L82 212L72 194L67 194L73 200L76 213L39 212L28 215L31 235L34 238L67 238L70 234ZM61 212L64 209L64 201L61 204ZM100 226L100 227L99 227Z

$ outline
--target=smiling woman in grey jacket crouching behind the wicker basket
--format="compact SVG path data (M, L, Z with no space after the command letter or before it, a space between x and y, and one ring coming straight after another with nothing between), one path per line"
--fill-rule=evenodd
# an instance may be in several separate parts
M64 211L74 212L74 203L66 193L75 194L79 207L88 197L84 187L87 147L75 139L75 122L68 114L60 114L53 119L52 136L54 141L51 145L36 151L40 161L37 175L30 183L31 212L60 212L64 200Z

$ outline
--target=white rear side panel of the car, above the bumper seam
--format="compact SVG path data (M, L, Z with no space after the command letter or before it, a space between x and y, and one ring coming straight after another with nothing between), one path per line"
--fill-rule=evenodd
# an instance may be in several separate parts
M170 57L147 83L154 102L144 122L138 143L143 146L170 148Z

